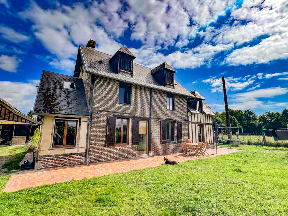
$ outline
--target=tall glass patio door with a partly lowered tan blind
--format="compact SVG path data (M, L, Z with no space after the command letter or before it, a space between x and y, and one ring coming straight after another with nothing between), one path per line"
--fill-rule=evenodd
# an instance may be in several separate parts
M137 146L137 155L146 155L148 146L148 122L139 122L139 145Z

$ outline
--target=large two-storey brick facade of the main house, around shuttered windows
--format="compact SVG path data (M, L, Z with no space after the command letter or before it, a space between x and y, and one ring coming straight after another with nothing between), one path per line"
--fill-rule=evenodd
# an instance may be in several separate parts
M182 122L182 139L187 141L188 128L186 96L175 95L175 111L167 110L166 92L152 90L152 155L171 154L181 151L181 143L161 144L160 120L173 119ZM107 117L116 115L149 118L150 88L132 85L131 105L119 104L119 82L96 76L94 87L93 115L91 122L90 162L102 162L134 158L137 156L136 145L106 147ZM96 116L96 111L101 116ZM130 125L132 128L132 119ZM132 130L130 128L130 139ZM175 126L177 141L177 124Z

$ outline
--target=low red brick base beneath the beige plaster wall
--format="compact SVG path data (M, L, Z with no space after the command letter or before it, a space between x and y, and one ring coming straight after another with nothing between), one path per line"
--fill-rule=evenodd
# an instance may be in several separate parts
M85 153L79 153L79 154L39 156L37 162L41 163L40 169L47 169L62 166L79 165L83 164L84 160L85 160Z

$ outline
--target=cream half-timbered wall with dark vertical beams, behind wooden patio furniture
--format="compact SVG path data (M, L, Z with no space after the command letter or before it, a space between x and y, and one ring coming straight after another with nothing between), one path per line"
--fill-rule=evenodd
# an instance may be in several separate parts
M214 133L213 133L213 123L212 116L206 114L196 114L188 112L189 117L189 137L192 139L193 143L199 142L199 134L198 134L198 125L202 125L202 139L204 142L208 142L208 144L214 143ZM209 145L212 147L212 145Z

